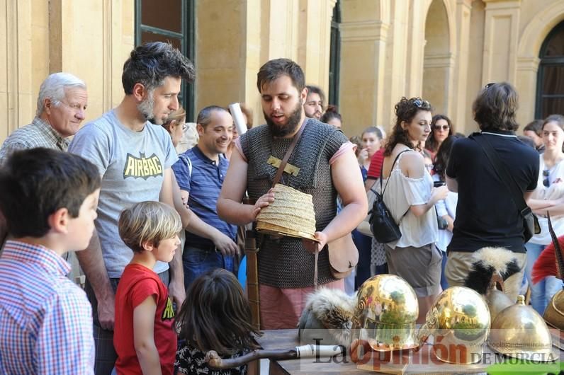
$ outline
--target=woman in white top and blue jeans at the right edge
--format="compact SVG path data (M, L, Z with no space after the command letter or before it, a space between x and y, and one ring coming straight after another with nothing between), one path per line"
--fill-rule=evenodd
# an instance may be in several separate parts
M556 236L564 235L564 217L562 204L553 202L564 198L564 116L550 115L546 117L542 125L541 136L545 151L540 155L540 168L538 183L533 198L527 202L529 207L538 215L538 223L541 224L541 233L535 234L526 243L526 267L525 275L529 280L531 288L531 306L540 313L544 313L548 301L562 288L562 280L554 276L547 277L537 284L531 282L531 270L533 264L541 251L551 243L551 235L548 233L548 220L546 213L551 214L551 221ZM546 207L546 205L552 204Z

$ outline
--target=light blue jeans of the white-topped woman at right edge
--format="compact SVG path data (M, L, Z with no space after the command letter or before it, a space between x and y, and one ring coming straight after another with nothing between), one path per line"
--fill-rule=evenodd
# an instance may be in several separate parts
M546 277L541 282L533 284L531 280L531 270L533 270L533 265L541 254L542 250L546 247L545 245L537 245L536 243L526 243L526 266L525 275L529 281L529 287L531 288L531 306L543 315L546 306L548 306L548 301L551 300L552 296L562 288L562 280L557 279L554 276Z

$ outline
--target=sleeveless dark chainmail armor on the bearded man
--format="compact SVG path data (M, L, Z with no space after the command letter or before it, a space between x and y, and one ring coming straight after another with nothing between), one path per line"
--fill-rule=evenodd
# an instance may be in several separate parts
M266 161L269 156L283 159L292 139L272 142L268 125L250 129L240 137L242 150L248 161L247 190L256 200L271 188L278 168ZM308 193L313 197L317 231L325 229L337 214L337 190L331 180L329 159L348 142L345 135L330 125L308 119L302 136L295 145L288 163L300 168L297 176L283 173L281 183ZM314 255L308 253L300 238L264 236L257 254L259 283L278 288L313 286ZM329 271L327 246L319 254L317 263L319 284L336 279Z

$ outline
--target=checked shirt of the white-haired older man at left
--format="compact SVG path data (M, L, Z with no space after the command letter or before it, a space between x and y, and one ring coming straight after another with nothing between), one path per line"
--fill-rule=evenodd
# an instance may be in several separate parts
M16 129L6 138L0 149L0 166L6 162L13 151L35 147L67 151L69 140L61 137L61 134L57 133L57 130L47 122L35 117L31 124Z

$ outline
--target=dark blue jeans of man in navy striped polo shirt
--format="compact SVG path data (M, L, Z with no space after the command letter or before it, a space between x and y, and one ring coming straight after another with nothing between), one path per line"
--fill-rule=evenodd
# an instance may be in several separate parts
M220 252L193 248L191 246L184 248L182 264L184 265L184 287L186 289L198 276L210 270L215 270L215 268L224 268L230 272L234 271L232 256L227 257Z

